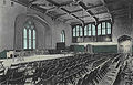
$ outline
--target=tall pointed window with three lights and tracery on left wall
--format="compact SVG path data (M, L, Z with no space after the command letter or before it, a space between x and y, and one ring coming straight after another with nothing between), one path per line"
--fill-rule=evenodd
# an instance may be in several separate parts
M23 49L35 49L34 23L28 20L23 28Z

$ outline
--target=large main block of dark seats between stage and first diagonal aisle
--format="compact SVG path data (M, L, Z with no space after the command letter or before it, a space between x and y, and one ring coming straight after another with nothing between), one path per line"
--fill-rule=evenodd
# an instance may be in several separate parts
M78 54L54 60L12 64L3 78L6 78L7 84L76 84L76 78L86 74L89 72L88 67L90 66L90 68L92 68L94 62L100 59L100 56L104 60L109 59L108 54ZM103 70L105 70L104 66ZM95 70L94 73L98 71L99 68ZM99 74L96 73L95 75L91 73L91 75L98 76Z

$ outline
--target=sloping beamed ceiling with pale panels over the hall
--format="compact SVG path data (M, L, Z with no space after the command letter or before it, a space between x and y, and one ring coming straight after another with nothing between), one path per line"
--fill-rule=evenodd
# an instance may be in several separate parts
M130 15L132 0L12 0L52 19L76 24Z

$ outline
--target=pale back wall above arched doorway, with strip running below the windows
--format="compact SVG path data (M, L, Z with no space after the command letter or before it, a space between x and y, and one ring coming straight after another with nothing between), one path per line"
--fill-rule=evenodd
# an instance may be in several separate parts
M88 43L76 43L80 45L117 45L117 39L122 35L129 35L133 38L133 22L126 17L114 18L114 23L112 24L112 42L88 42Z

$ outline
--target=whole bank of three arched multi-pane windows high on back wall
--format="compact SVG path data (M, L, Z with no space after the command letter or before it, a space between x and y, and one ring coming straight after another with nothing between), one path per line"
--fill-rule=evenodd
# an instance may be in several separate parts
M110 21L102 21L98 25L88 23L84 28L74 25L72 28L72 42L104 42L112 39L112 25ZM83 40L83 41L82 41ZM112 40L111 40L112 41Z

